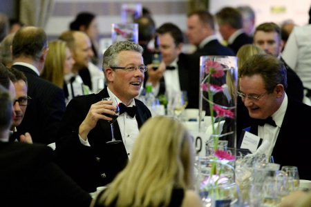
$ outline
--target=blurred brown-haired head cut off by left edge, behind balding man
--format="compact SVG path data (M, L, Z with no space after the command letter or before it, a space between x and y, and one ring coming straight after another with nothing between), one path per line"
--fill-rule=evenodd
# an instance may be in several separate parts
M11 46L15 34L8 34L0 43L0 61L4 66L10 68L12 66Z

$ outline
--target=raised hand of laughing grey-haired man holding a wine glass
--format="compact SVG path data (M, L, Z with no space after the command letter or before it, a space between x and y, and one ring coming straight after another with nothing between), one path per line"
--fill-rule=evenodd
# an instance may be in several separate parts
M115 115L116 107L112 105L112 101L98 101L91 105L90 110L82 124L79 126L79 135L86 140L88 132L90 132L97 124L99 119L111 121L108 115Z

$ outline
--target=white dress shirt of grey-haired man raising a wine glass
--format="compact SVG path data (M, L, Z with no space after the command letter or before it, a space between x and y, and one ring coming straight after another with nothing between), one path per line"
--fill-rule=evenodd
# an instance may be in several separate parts
M117 104L122 102L113 94L113 92L111 92L109 87L107 87L107 90L109 97L117 99ZM133 101L131 101L131 103L128 106L129 107L135 106L135 100L133 99ZM137 120L135 117L129 116L127 112L124 112L122 113L122 115L119 115L117 117L117 124L119 125L120 128L123 144L125 146L127 155L129 156L129 159L131 159L133 144L139 133ZM79 135L79 139L81 143L84 144L85 146L91 146L87 138L86 141L84 141L84 139L82 139Z

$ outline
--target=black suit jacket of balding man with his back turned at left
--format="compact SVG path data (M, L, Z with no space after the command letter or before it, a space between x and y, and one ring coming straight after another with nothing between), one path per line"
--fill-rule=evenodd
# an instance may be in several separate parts
M14 65L28 81L28 96L31 97L23 121L17 127L21 134L30 132L32 141L50 144L56 141L59 123L66 108L64 91L26 66Z

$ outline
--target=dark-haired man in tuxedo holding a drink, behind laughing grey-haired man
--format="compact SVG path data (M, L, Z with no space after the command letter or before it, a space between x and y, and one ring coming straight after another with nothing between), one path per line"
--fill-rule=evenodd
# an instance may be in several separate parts
M156 96L164 95L166 92L170 95L181 90L189 94L189 66L187 66L189 58L182 53L184 40L182 31L173 23L164 23L156 30L156 34L162 61L166 67L159 67L156 70L150 67L147 84L153 86L153 94ZM191 99L188 101L191 106Z

